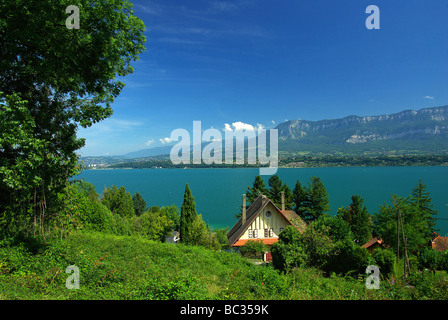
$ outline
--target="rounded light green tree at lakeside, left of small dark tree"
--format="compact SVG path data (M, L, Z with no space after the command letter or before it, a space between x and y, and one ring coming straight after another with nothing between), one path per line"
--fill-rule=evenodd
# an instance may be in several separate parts
M101 203L108 207L112 213L121 217L132 217L135 214L131 194L126 192L124 186L118 188L114 185L112 188L105 189Z

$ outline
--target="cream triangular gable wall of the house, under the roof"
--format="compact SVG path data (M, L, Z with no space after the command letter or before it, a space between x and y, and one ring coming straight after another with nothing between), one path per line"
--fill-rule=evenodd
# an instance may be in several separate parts
M270 211L271 216L267 217L266 212ZM289 225L289 222L281 215L271 203L268 203L268 205L263 209L262 212L252 221L251 225L246 229L244 234L240 237L240 240L246 240L246 239L265 239L264 236L264 230L265 229L273 229L273 235L272 237L268 236L266 238L278 238L278 235L280 234L280 229L284 229L286 226ZM257 230L258 235L256 238L251 237L249 238L249 230Z

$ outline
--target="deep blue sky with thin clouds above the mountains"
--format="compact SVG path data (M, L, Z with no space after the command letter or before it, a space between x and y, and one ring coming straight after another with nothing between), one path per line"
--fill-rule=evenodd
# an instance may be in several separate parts
M83 156L163 146L195 120L273 128L448 104L445 0L131 2L147 49L114 115L79 129Z

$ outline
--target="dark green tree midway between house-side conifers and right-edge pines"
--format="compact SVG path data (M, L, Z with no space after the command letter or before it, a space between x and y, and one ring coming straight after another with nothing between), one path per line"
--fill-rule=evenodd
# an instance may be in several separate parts
M347 208L338 209L338 216L348 223L357 243L362 245L370 240L372 221L363 198L353 195L352 203Z

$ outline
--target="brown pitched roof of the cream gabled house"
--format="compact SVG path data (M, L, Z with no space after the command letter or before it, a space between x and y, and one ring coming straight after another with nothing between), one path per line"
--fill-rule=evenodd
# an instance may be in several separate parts
M227 239L229 241L229 245L236 246L239 245L239 238L246 231L246 229L252 224L254 219L259 215L261 211L267 206L268 203L271 203L274 208L290 223L293 225L293 220L298 220L301 218L292 210L280 210L274 202L272 202L269 198L259 195L257 199L247 208L246 210L246 222L242 223L242 218L238 219L235 225L230 229L229 233L227 233ZM303 221L303 220L302 220ZM306 223L303 221L304 226ZM300 228L302 229L302 228ZM267 240L267 239L266 239ZM238 244L237 244L238 243Z

